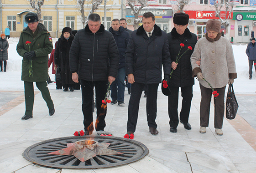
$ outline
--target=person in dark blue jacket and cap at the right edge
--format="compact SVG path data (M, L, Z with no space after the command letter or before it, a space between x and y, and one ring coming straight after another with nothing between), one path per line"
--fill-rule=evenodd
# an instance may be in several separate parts
M246 55L248 56L249 59L249 79L251 79L253 65L256 71L256 46L254 37L251 39L251 42L247 45Z

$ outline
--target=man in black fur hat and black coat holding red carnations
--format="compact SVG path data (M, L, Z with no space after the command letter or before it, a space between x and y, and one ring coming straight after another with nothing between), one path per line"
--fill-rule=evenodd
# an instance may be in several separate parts
M185 13L175 13L173 16L174 28L167 34L169 41L169 50L172 60L173 73L168 82L172 95L168 96L168 113L170 117L170 132L176 133L179 123L178 118L178 95L179 87L181 87L182 109L180 112L180 122L188 130L191 125L188 123L188 116L190 112L191 100L193 97L192 87L194 85L194 78L192 77L192 67L190 63L190 56L193 53L194 46L197 42L197 36L191 33L188 26L189 16ZM181 48L180 44L184 47ZM188 46L192 50L188 50ZM188 50L188 51L187 51ZM180 53L179 53L180 51ZM176 58L187 51L176 63Z

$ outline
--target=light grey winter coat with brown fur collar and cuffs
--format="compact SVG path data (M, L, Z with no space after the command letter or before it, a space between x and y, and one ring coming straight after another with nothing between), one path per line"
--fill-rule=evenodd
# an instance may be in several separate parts
M221 88L227 85L229 78L237 78L235 59L230 41L222 37L220 33L214 40L209 39L206 33L205 37L197 42L190 58L193 69L192 76L195 77L198 72L202 72L204 79L213 88ZM196 61L199 61L200 58L201 65L199 67ZM204 80L199 80L199 82L204 87L210 88Z

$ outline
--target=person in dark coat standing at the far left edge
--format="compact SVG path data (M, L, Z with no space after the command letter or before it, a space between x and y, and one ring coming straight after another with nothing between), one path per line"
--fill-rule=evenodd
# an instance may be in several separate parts
M1 72L3 72L3 61L4 61L4 72L6 72L9 43L6 40L5 34L1 34L0 37L1 37L0 38L0 66L1 66Z

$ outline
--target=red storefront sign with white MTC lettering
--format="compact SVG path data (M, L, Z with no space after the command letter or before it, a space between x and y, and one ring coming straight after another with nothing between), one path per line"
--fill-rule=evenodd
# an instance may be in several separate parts
M215 11L184 11L189 15L189 19L219 19L218 17L215 17ZM221 19L225 18L226 11L220 11L220 17ZM227 12L227 16L229 15L229 12ZM229 19L233 18L233 12L231 13L231 16Z

